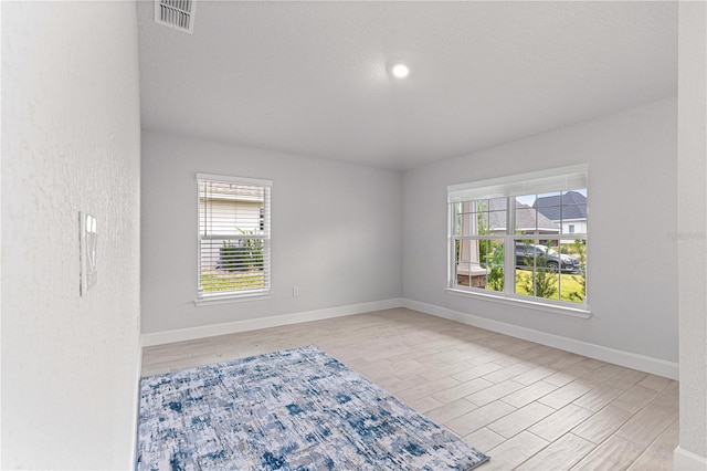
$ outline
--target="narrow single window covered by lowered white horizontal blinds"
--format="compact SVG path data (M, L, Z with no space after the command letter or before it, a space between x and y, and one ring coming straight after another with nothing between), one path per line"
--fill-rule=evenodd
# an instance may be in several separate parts
M270 180L197 175L197 302L270 292Z

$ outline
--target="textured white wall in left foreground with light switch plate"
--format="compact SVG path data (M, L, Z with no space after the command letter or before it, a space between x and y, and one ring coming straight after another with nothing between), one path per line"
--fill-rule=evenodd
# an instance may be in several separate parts
M135 3L2 2L3 469L133 467L139 133Z

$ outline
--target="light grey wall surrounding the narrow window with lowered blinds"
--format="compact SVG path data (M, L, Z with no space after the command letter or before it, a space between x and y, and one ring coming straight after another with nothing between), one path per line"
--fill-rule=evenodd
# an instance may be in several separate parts
M273 180L268 300L197 307L197 172ZM143 135L143 332L399 297L401 176L371 167ZM299 296L293 296L299 286Z

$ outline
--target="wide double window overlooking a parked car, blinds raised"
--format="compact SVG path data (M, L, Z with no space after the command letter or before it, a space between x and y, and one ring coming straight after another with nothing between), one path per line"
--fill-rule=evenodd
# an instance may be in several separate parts
M587 311L587 166L447 188L449 287Z

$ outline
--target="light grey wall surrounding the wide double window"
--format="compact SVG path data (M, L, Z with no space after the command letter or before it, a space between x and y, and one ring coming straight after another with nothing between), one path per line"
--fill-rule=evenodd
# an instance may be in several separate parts
M676 100L407 171L403 297L677 362ZM446 186L589 164L589 320L445 293Z

